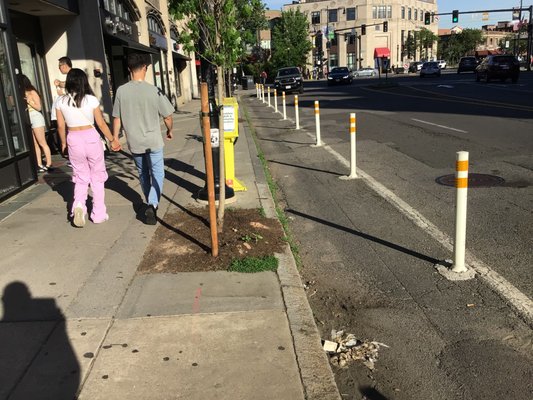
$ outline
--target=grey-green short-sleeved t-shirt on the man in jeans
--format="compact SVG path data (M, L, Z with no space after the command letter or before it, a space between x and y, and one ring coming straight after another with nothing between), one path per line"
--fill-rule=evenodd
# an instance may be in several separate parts
M113 106L113 117L120 118L130 151L136 154L163 148L161 117L173 112L163 92L145 81L120 86Z

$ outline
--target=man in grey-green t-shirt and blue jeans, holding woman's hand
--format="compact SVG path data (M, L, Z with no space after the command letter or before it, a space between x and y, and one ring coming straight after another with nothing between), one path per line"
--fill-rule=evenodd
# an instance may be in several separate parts
M145 82L149 65L148 54L128 55L131 80L117 90L113 106L113 135L118 138L121 127L124 128L146 198L141 216L144 223L155 225L165 179L161 117L167 128L166 138L170 140L174 107L160 89Z

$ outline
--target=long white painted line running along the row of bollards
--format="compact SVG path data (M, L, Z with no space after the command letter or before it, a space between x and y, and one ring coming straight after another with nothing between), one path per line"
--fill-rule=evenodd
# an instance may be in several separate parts
M311 138L313 135L305 131ZM333 150L329 145L324 144L323 148L327 150L346 168L350 167L350 162L342 155ZM425 230L433 239L439 242L446 250L453 253L453 240L450 236L442 232L436 225L431 223L427 218L417 210L396 196L391 190L372 178L366 172L358 169L358 175L365 183L377 194L392 204L404 216L409 218L415 225ZM530 326L533 327L533 301L524 293L514 287L503 276L492 270L483 261L478 259L470 251L466 251L466 263L472 268L481 280L483 280L492 290L494 290L515 312Z

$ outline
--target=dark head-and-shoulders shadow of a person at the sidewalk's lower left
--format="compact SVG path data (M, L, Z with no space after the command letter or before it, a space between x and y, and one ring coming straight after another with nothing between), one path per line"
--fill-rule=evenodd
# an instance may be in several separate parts
M15 281L4 288L2 303L0 398L74 399L80 365L55 300L32 298Z

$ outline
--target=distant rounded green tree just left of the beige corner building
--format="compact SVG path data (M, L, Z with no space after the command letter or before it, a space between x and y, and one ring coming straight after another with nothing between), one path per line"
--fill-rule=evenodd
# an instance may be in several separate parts
M313 48L309 38L309 22L299 9L283 11L272 31L272 66L304 67Z

